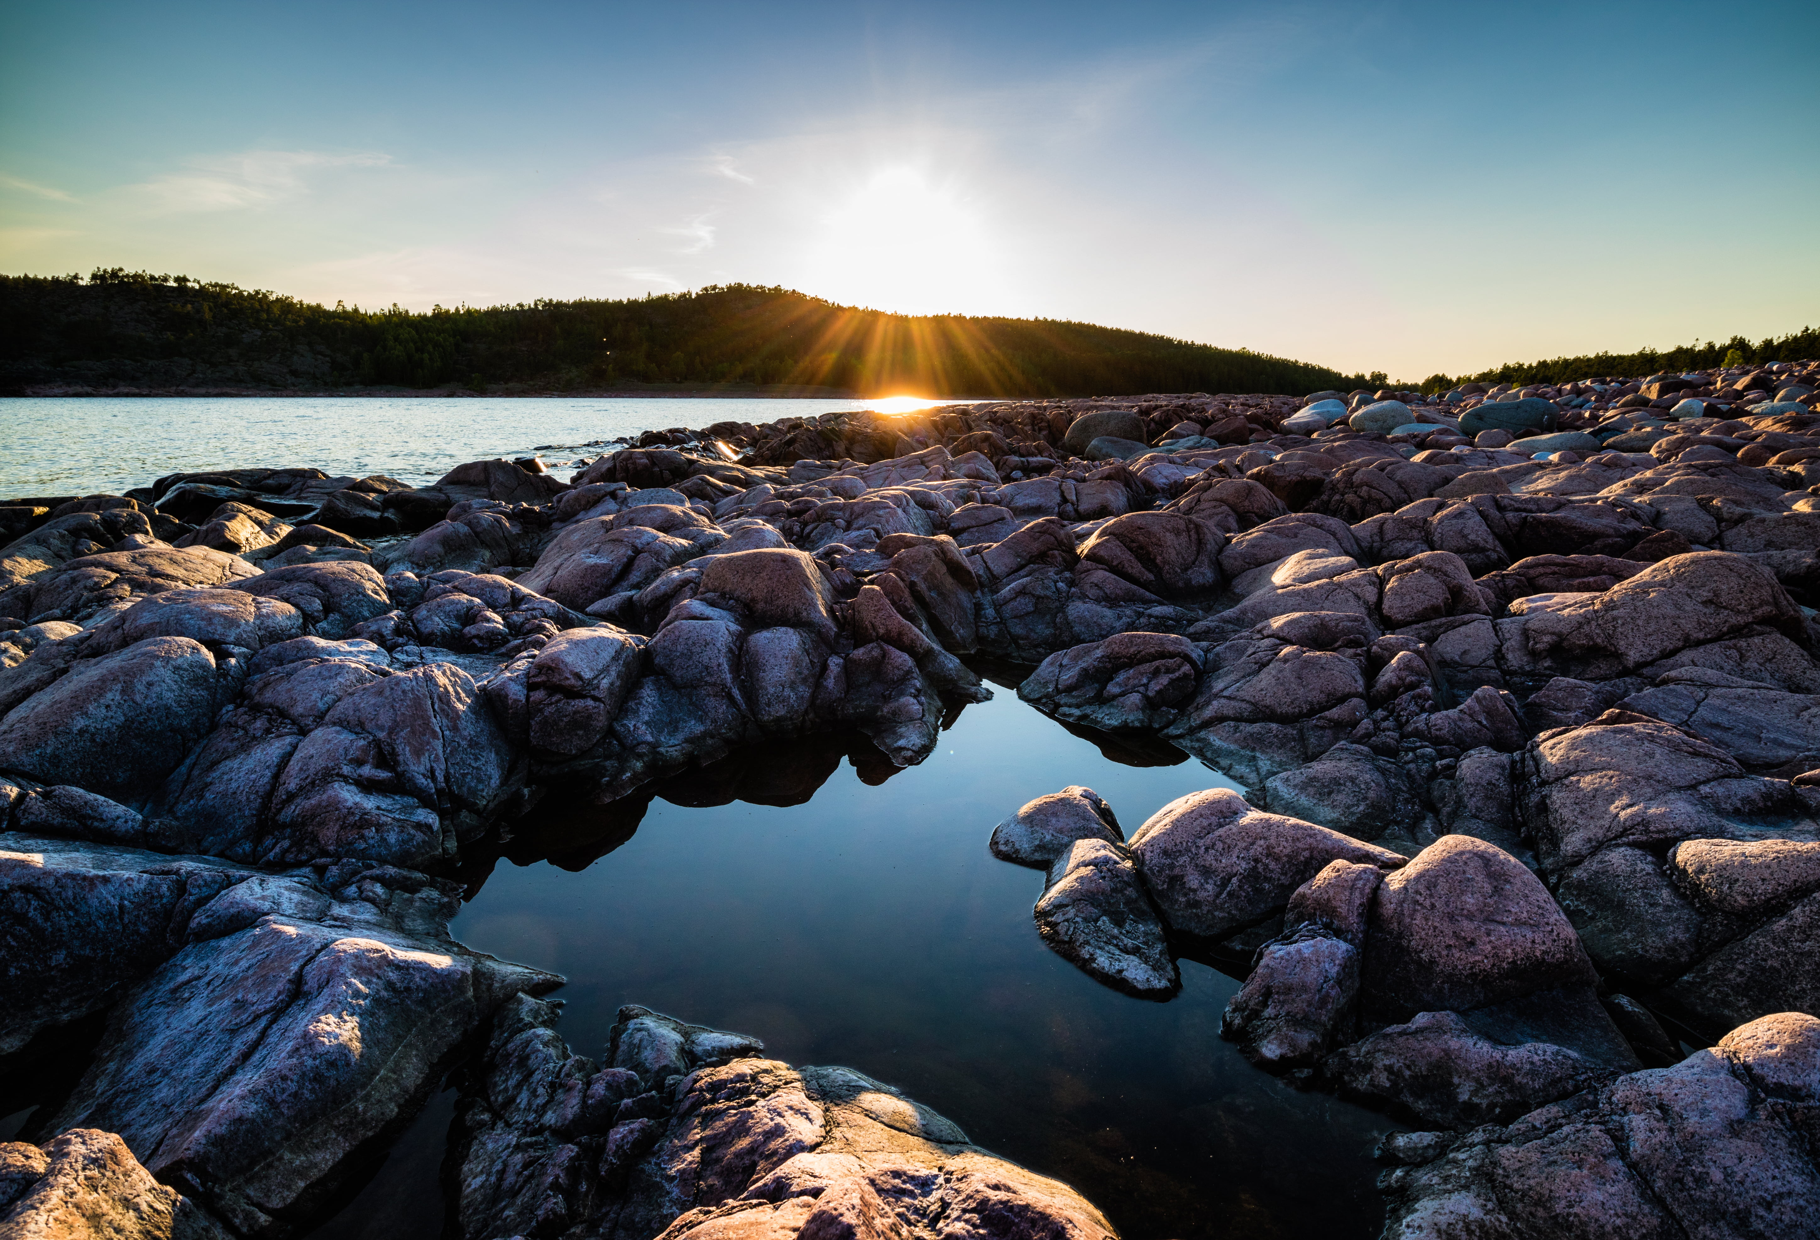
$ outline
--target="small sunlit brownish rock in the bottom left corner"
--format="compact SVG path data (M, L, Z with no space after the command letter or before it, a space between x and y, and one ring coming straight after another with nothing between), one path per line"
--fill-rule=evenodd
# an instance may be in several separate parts
M78 1127L42 1149L0 1142L0 1235L228 1240L233 1233L153 1180L115 1133Z

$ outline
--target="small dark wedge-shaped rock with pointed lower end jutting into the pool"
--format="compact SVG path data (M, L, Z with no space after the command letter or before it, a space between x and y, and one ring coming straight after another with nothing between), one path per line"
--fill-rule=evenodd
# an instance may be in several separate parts
M1138 998L1170 998L1181 976L1130 858L1107 840L1076 840L1036 902L1043 942L1096 982Z

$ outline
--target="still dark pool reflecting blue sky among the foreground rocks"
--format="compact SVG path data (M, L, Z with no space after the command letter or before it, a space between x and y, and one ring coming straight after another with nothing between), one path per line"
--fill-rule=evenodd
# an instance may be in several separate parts
M996 693L877 785L841 742L677 778L592 864L635 809L533 815L528 864L500 860L453 933L566 975L559 1031L579 1053L599 1058L615 1009L637 1002L753 1033L792 1064L857 1067L1074 1184L1128 1240L1376 1235L1370 1147L1389 1120L1245 1064L1219 1040L1238 982L1207 965L1185 960L1168 1004L1087 978L1037 938L1041 873L986 849L999 818L1068 784L1107 796L1127 835L1230 784L1198 762L1112 762ZM752 800L708 804L737 796ZM531 860L551 845L559 864ZM435 1236L451 1102L317 1235Z

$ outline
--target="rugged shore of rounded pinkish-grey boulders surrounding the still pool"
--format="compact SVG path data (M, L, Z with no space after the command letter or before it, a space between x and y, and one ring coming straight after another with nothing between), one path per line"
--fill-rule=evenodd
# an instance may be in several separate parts
M1116 1235L850 1069L642 1007L577 1055L561 978L448 933L557 798L848 736L915 764L981 660L1245 789L1127 836L1068 787L990 847L1087 975L1225 969L1259 1071L1407 1124L1387 1235L1820 1235L1816 378L976 404L652 431L570 482L7 500L0 1062L98 1040L0 1142L0 1236L300 1235L455 1067L475 1240Z

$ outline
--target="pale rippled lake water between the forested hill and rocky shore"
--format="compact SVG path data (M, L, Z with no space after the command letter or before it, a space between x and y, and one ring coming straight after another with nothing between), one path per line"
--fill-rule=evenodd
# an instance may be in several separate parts
M599 440L715 422L774 422L864 400L504 396L0 398L0 496L96 495L167 473L315 465L435 482L464 460L595 456ZM557 469L561 476L568 476Z

